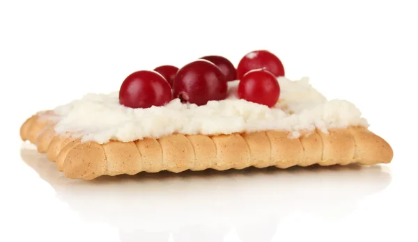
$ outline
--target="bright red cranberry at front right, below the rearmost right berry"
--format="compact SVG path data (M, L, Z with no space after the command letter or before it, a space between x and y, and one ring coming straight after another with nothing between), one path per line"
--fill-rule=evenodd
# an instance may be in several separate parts
M279 100L280 86L276 77L266 70L247 72L238 84L238 97L270 108Z

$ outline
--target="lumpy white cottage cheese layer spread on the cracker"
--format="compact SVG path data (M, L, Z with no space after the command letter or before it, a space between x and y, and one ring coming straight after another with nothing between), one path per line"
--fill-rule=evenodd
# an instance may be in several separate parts
M307 78L277 80L281 94L273 108L238 99L239 81L229 82L227 99L203 106L173 99L166 106L134 109L119 104L118 92L88 94L55 108L59 115L55 129L59 133L78 134L83 141L106 143L174 133L215 135L265 130L291 131L297 137L302 130L318 128L326 132L332 127L368 125L354 104L338 99L327 101Z

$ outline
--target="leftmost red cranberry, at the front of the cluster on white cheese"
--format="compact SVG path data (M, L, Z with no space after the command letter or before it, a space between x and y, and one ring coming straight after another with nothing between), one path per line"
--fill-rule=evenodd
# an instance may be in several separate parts
M119 102L130 108L164 106L171 101L171 88L164 77L154 71L134 72L126 77L119 90Z

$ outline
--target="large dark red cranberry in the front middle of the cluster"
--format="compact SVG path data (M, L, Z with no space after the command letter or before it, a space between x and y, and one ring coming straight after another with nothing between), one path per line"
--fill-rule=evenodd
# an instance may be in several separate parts
M226 98L228 84L215 64L198 60L178 70L173 81L173 97L182 102L205 105L210 100Z

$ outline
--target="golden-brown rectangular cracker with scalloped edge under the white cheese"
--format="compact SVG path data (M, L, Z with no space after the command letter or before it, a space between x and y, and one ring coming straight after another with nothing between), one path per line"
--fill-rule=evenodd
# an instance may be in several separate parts
M260 131L218 136L173 134L123 143L82 143L79 138L56 134L45 113L28 118L20 129L22 140L36 145L68 178L95 179L102 175L139 172L243 169L249 166L289 168L359 163L390 163L392 147L364 127L315 130L300 138L286 131Z

